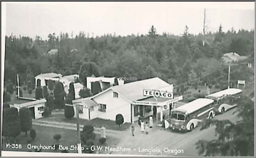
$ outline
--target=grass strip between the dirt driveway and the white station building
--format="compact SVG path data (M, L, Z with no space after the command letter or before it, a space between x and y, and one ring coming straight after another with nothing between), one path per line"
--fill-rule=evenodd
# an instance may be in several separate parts
M76 118L71 118L71 119L67 119L64 114L51 114L49 117L44 117L40 120L45 120L45 121L55 121L55 122L64 122L64 123L77 123L77 119ZM120 126L116 124L115 121L112 120L104 120L101 118L95 118L92 120L85 120L85 119L79 119L80 124L91 124L94 127L98 127L101 128L102 126L104 126L106 129L110 129L110 130L116 130L116 131L124 131L126 129L128 129L130 127L130 123L124 123Z

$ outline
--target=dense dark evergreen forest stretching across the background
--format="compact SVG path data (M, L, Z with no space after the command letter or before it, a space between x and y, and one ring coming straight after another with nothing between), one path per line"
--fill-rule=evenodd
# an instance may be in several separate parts
M76 36L53 33L47 40L40 36L6 36L4 81L15 83L16 74L20 75L21 83L29 73L78 74L83 63L93 62L102 76L137 80L158 76L174 84L200 78L209 84L216 82L211 78L226 80L227 66L221 64L224 53L249 56L254 65L254 30L223 32L220 26L205 37L207 42L203 46L203 35L189 34L187 26L182 36L159 35L153 26L149 27L148 35L88 37L84 32ZM58 52L50 55L47 52L51 49Z

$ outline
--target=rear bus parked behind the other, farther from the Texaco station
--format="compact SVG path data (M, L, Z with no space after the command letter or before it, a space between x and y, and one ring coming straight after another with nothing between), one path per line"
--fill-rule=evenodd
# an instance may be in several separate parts
M223 114L225 111L237 106L234 103L228 103L228 100L225 100L227 96L234 96L236 98L240 97L242 93L241 89L237 88L228 88L210 95L207 95L206 98L213 99L216 107L214 108L216 114Z

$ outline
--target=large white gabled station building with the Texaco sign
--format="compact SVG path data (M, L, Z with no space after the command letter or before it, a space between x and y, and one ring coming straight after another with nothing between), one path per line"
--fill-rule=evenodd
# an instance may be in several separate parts
M144 89L167 91L173 95L173 85L158 77L142 81L116 85L88 98L73 101L76 116L76 106L79 106L79 117L82 119L102 118L115 120L117 114L122 114L124 122L134 122L141 117L157 115L162 120L163 113L169 114L171 104L182 100L177 98L157 98L144 96Z

